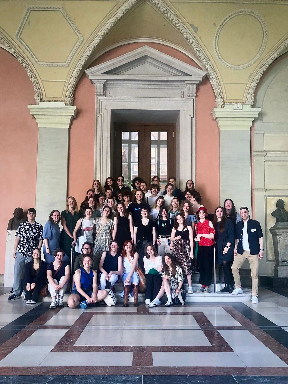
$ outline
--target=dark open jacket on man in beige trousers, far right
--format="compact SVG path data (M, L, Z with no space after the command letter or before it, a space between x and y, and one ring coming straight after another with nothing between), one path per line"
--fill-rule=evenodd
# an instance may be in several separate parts
M243 245L242 245L242 238L243 238L243 227L244 222L243 220L239 221L236 224L236 237L239 240L238 246L237 246L237 252L240 255L243 255ZM262 228L260 226L260 223L257 220L252 220L249 218L247 221L247 232L248 232L248 243L249 243L249 249L251 255L257 255L260 252L260 244L259 239L263 237Z

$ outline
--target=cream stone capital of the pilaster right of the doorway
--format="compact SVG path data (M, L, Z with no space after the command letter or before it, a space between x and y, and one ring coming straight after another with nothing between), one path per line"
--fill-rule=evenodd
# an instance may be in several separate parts
M260 111L261 108L251 108L247 104L227 104L224 108L214 108L211 115L217 121L220 131L250 131Z

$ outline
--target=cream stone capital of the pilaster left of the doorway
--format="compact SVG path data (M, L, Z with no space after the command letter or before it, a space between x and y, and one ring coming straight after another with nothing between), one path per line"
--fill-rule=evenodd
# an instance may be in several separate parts
M69 128L77 114L76 106L65 105L62 102L42 101L38 105L28 105L28 108L39 128Z

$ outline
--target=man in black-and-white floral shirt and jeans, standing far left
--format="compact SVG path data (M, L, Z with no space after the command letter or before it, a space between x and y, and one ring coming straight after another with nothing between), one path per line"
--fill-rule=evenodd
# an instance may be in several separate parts
M33 248L41 249L42 247L43 227L35 221L35 217L35 208L29 208L27 211L27 220L24 223L20 223L15 235L16 239L13 254L13 258L15 258L13 294L8 297L9 301L21 297L21 278L25 264L32 260Z

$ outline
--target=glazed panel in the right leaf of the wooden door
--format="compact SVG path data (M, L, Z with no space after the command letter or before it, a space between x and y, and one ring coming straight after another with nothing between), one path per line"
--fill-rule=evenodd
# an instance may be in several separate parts
M151 180L157 175L161 186L167 184L167 132L151 132L150 173Z

